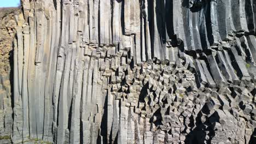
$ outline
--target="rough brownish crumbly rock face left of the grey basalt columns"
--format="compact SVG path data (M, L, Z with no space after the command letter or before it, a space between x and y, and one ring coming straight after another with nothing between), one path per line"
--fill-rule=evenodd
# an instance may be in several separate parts
M16 35L17 8L0 8L0 143L11 142L13 105L11 103L11 78L13 71L13 40Z

